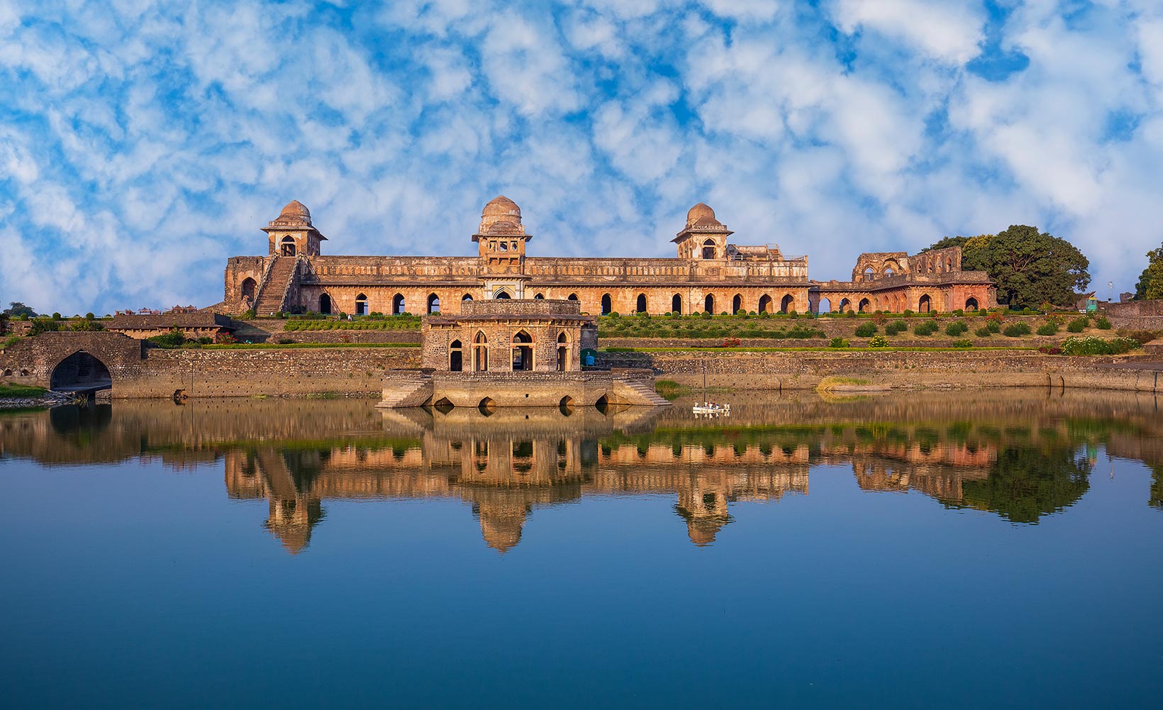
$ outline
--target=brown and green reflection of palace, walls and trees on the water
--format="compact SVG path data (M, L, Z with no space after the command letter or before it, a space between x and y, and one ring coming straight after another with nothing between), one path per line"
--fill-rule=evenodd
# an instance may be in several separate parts
M266 499L263 525L291 553L309 546L328 499L458 499L505 553L538 509L668 496L677 530L709 545L735 506L808 495L821 466L850 468L869 492L915 491L1033 524L1082 499L1099 446L1153 466L1146 496L1163 509L1163 426L1150 397L802 396L734 403L730 420L688 412L117 403L0 417L0 456L45 466L159 457L174 469L221 460L227 495Z

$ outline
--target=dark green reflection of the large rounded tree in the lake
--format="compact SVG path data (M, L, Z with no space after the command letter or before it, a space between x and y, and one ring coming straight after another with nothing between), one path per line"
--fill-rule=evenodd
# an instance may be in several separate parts
M1090 488L1091 464L1072 448L1006 448L984 481L965 481L962 504L1012 523L1037 523L1078 502Z

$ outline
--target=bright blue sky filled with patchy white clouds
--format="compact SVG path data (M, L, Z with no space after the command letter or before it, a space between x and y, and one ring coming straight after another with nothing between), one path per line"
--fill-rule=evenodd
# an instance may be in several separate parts
M1163 1L0 0L0 301L206 306L292 199L324 254L673 256L698 201L848 278L1035 225L1163 242Z

